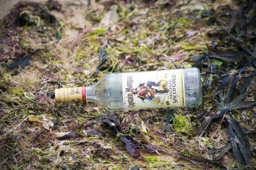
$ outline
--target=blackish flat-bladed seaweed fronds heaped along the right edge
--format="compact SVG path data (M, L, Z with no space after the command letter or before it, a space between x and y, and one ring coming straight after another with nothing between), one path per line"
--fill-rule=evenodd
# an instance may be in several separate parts
M243 16L244 14L242 14L241 11L232 11L232 12L228 11L227 13L232 15L232 18L227 30L227 33L230 34L232 28L235 26L237 15L240 17L240 20L244 21L246 18ZM244 23L241 22L240 24L241 24L240 29L246 27L245 22ZM249 67L249 66L255 67L253 62L255 57L254 57L254 53L252 53L248 49L248 47L244 45L243 41L239 39L239 37L241 37L241 34L237 35L237 37L238 38L232 35L229 35L227 37L230 41L230 45L232 45L232 43L235 43L236 49L238 49L237 51L220 51L217 49L213 49L212 47L207 45L208 53L206 53L204 58L199 60L199 62L197 63L197 66L202 66L202 62L204 62L207 57L221 59L225 62L239 62L238 64L225 64L226 68L236 69L236 71L233 72L232 74L230 74L229 72L225 74L221 74L220 72L215 72L215 74L220 75L221 77L217 85L217 90L219 90L219 92L217 95L215 95L217 100L219 101L217 103L218 111L215 112L215 114L210 118L205 118L203 125L201 126L199 136L203 136L203 134L206 132L206 128L209 127L209 125L214 119L222 118L223 120L225 115L230 111L240 109L240 108L249 108L253 105L256 105L255 101L241 102L250 93L247 87L255 77L256 73L254 69L250 76L247 76L247 77L244 76L246 73L246 67ZM212 75L212 71L210 72L210 76L211 75ZM214 79L216 80L217 77L214 77L213 80ZM204 95L206 95L204 91L206 89L209 89L211 87L210 85L211 85L211 82L208 79L208 81L206 81L206 83L204 83L203 85ZM228 88L226 88L227 85L228 85ZM227 93L223 97L222 94L224 90L227 91ZM237 92L239 93L239 95L235 97ZM202 108L202 112L198 116L198 119L202 118L202 116L206 114L203 109L204 107ZM238 130L239 128L241 128L241 125L237 121L235 121L235 119L232 118L231 114L229 114L227 120L229 122L229 134L230 134L231 143L227 144L225 147L221 149L213 150L212 152L210 152L210 154L215 152L221 152L218 156L214 158L214 160L218 160L232 148L233 153L235 154L235 159L241 164L249 165L250 159L252 158L252 153L249 152L250 150L248 150L248 148L250 148L248 138L238 138L238 136L244 136L244 134L242 135L241 132ZM234 124L235 124L235 127L234 127ZM243 129L243 131L245 130ZM237 136L237 133L239 133L238 136Z

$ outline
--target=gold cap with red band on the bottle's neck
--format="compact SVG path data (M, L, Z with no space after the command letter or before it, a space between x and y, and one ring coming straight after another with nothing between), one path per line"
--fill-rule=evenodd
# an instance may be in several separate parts
M55 102L86 102L85 86L55 88Z

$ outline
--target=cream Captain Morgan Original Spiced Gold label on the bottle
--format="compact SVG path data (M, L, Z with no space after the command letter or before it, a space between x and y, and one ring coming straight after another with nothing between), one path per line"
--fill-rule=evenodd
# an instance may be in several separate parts
M122 74L126 110L186 106L183 69Z

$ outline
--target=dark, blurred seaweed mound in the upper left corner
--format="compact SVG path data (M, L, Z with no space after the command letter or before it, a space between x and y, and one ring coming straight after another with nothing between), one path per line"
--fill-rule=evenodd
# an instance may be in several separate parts
M43 29L43 27L48 27L48 29ZM22 29L33 34L34 43L39 46L32 45L28 43L26 39L23 39L21 36ZM54 15L50 14L40 3L30 1L18 2L3 19L0 43L6 44L8 47L0 47L1 62L6 62L8 59L13 58L13 56L20 58L26 55L21 61L17 61L7 67L13 68L16 67L16 65L21 65L21 68L24 68L31 58L30 55L33 55L35 51L48 49L49 46L52 45L45 45L45 40L43 40L45 33L49 34L49 38L52 36L50 33L52 29L55 30L56 37L59 41L61 39L61 24ZM41 45L38 42L40 40L43 42ZM40 49L38 49L39 47ZM8 48L9 52L6 52ZM31 49L36 50L27 53L27 51L31 51Z

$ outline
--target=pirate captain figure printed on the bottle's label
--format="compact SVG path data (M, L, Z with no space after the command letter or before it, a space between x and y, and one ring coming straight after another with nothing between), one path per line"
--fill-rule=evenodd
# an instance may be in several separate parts
M157 87L156 88L153 88ZM133 88L131 90L131 93L133 95L138 95L138 98L141 100L148 100L151 101L154 99L156 94L166 94L169 92L169 89L167 87L167 81L166 80L160 80L158 83L150 82L142 83L137 88Z

